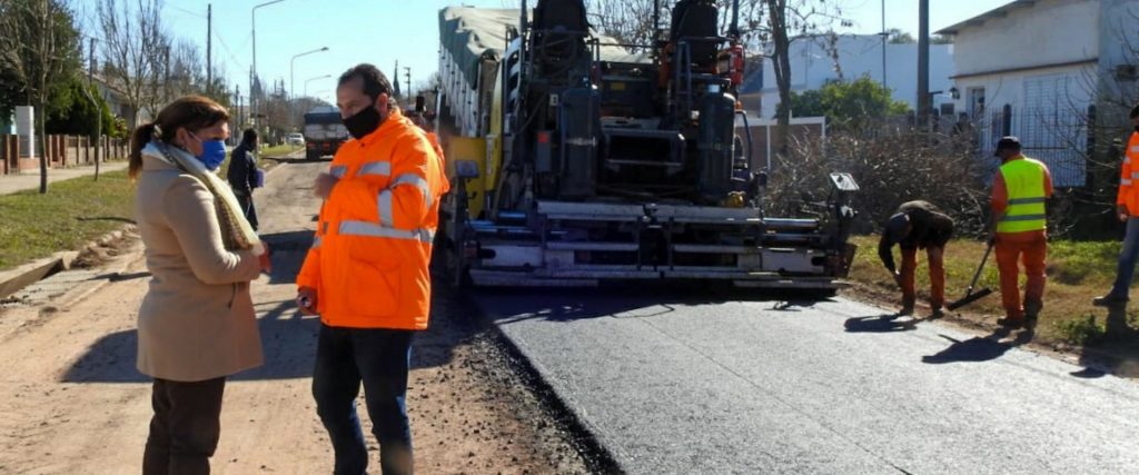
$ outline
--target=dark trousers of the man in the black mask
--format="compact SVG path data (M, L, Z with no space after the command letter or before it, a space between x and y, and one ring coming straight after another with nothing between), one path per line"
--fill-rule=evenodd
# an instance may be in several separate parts
M355 408L361 382L383 473L412 473L405 403L412 335L410 330L320 326L312 395L333 442L336 474L359 475L368 468Z

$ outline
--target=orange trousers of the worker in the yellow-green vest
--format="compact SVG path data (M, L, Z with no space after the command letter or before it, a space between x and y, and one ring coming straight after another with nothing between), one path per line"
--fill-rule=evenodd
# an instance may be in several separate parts
M1048 257L1048 236L1044 231L998 232L997 269L1000 271L1000 296L1005 316L1011 320L1024 318L1024 309L1039 312L1043 308L1044 260ZM1021 269L1027 276L1024 301L1021 300Z

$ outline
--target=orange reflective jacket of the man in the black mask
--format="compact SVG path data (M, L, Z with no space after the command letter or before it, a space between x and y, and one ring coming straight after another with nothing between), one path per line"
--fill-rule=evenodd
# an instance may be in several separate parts
M432 240L449 185L421 129L398 109L376 131L341 146L298 287L317 290L325 325L427 328Z

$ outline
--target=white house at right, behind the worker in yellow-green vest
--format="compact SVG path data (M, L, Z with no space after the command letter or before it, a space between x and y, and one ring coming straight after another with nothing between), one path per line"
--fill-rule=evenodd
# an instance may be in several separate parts
M957 109L982 150L1017 136L1057 186L1083 186L1090 107L1136 85L1136 15L1139 0L1018 0L939 31L954 38Z

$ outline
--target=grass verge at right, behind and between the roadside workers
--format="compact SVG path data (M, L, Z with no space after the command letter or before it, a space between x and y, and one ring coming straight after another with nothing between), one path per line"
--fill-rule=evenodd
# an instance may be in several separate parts
M859 249L850 278L876 290L898 295L900 301L901 292L878 260L878 238L859 236L852 241L859 245ZM1038 339L1074 345L1095 345L1103 341L1100 324L1106 321L1107 311L1092 306L1091 300L1105 294L1115 280L1120 247L1118 241L1048 243L1048 284L1044 287L1044 309L1036 328ZM949 243L945 247L947 301L952 302L965 295L984 252L985 244L981 241L958 239ZM901 263L896 247L894 256ZM1021 282L1023 290L1023 272ZM984 287L992 288L993 295L970 304L964 311L993 322L998 317L1003 317L1005 311L1001 306L997 263L992 255L977 282L977 288ZM929 278L924 253L918 254L917 288L919 302L927 302ZM1139 292L1132 290L1132 297L1137 296Z

